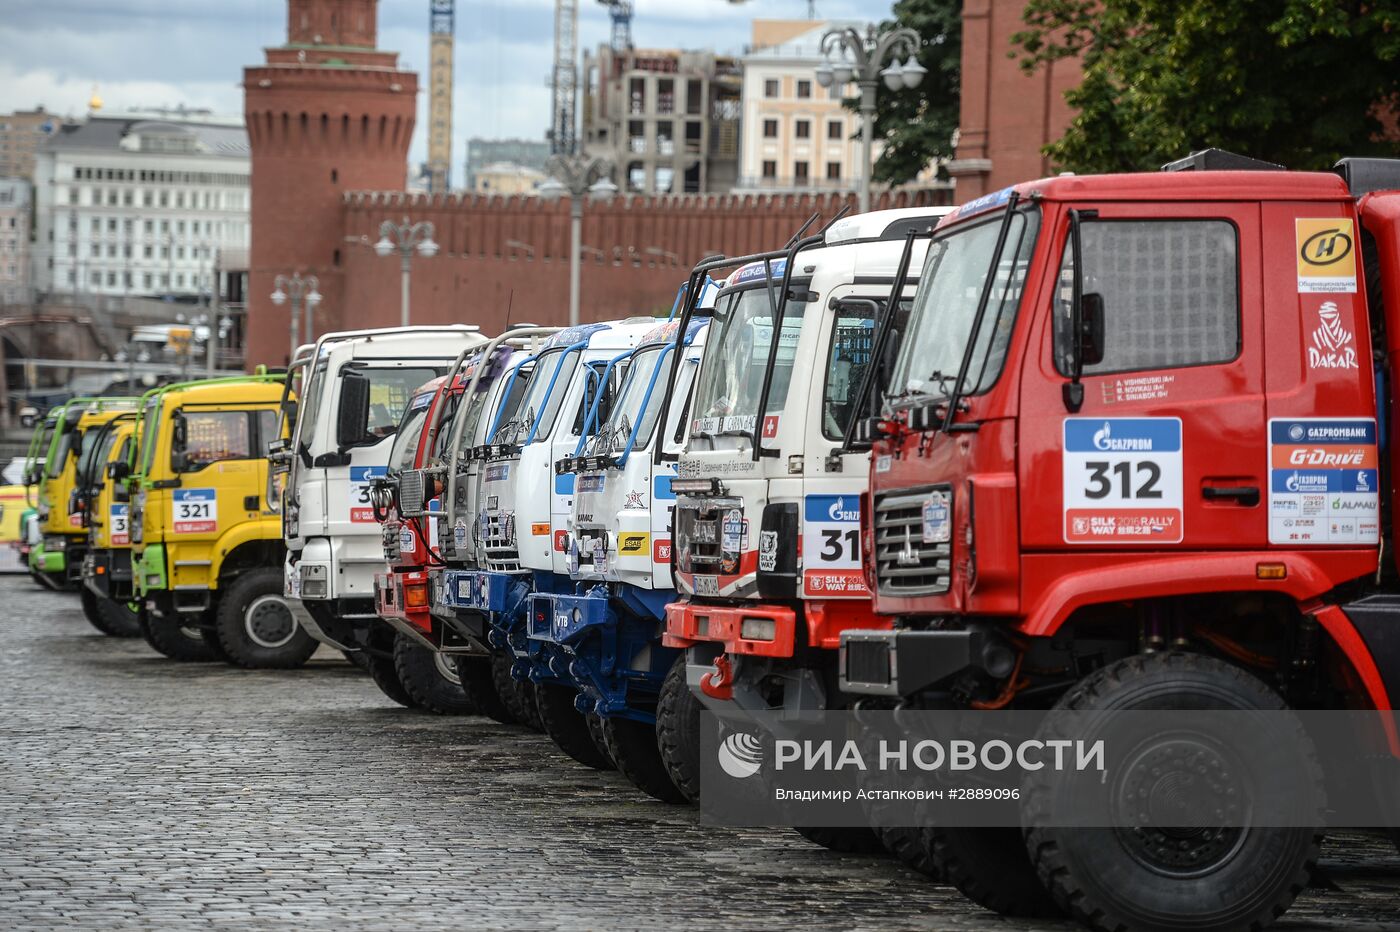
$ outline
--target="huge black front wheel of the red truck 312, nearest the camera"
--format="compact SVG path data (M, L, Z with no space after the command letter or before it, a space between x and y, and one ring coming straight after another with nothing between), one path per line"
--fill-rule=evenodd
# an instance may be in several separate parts
M1287 704L1274 690L1249 672L1198 654L1149 654L1112 663L1079 682L1057 704L1077 714L1074 737L1093 740L1102 718L1096 712L1117 711L1267 711L1277 721ZM1088 725L1085 721L1088 719ZM1056 718L1047 719L1037 737L1058 739ZM1238 784L1235 798L1253 796L1252 765L1270 772L1299 777L1306 789L1322 799L1322 767L1316 749L1301 723L1292 735L1270 742L1287 757L1231 760L1229 736L1191 733L1163 739L1179 747L1197 749L1183 761L1182 777L1208 765L1203 746L1219 749L1225 779ZM1203 742L1205 744L1203 744ZM1154 747L1151 760L1155 785L1170 785L1176 770ZM1165 774L1158 772L1166 767ZM1056 791L1054 786L1060 786ZM1051 781L1032 772L1022 786L1026 800L1023 820L1030 826L1025 847L1042 882L1054 900L1075 919L1092 929L1257 929L1271 924L1309 883L1322 848L1322 834L1301 828L1221 828L1198 826L1162 833L1152 827L1065 828L1056 827L1056 813L1074 795L1092 792L1084 784ZM1110 788L1103 798L1116 805ZM1135 809L1140 795L1126 796ZM1320 806L1319 806L1320 809ZM1114 810L1116 813L1117 810ZM1322 813L1319 812L1319 823ZM1127 824L1127 820L1113 824ZM1163 840L1169 844L1163 844Z

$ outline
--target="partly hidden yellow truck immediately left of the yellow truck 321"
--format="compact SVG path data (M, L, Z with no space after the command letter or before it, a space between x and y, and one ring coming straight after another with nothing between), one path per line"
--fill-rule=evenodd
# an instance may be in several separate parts
M137 637L139 606L132 593L130 493L112 480L112 463L126 463L136 411L95 428L95 441L78 463L78 511L88 532L83 557L83 614L104 634ZM120 469L118 469L120 472Z

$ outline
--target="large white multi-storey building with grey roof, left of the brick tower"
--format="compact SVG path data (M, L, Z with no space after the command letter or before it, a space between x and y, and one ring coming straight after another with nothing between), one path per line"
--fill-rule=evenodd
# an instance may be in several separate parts
M91 116L35 164L34 285L63 295L217 298L223 256L246 256L241 118Z

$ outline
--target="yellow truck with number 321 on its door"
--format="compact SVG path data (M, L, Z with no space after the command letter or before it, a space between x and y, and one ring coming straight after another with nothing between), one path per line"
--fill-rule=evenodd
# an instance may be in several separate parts
M281 375L168 385L141 400L129 462L141 634L181 661L301 666L316 649L283 599ZM120 472L120 470L119 470Z

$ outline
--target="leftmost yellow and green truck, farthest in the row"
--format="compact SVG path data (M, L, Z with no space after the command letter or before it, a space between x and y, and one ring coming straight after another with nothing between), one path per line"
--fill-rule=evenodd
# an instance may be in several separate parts
M39 486L39 529L43 549L38 570L55 589L77 589L87 553L87 528L78 511L78 462L92 449L97 430L136 406L133 397L76 397L55 423Z

